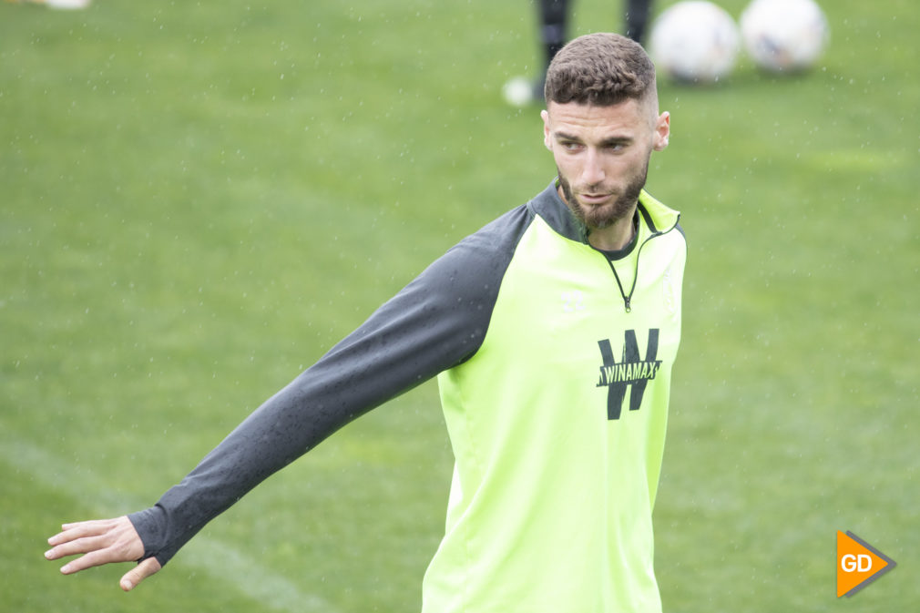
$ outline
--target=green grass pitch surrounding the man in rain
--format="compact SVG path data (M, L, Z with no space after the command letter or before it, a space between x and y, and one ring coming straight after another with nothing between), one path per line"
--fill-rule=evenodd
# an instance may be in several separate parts
M661 2L661 7L666 2ZM737 17L744 0L721 2ZM690 241L656 507L669 613L920 607L920 7L825 0L807 75L661 84ZM619 3L576 3L574 33ZM453 459L433 383L130 595L67 520L155 502L461 237L552 178L528 2L0 4L0 610L414 611ZM836 530L899 566L834 593ZM581 613L581 612L578 612Z

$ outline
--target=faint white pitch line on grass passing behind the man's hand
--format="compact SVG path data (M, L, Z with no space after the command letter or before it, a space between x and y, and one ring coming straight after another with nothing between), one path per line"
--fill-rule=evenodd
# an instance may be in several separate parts
M18 471L32 475L54 491L89 505L100 515L111 514L112 509L123 509L127 505L132 509L147 506L116 492L93 473L26 441L6 436L0 438L0 459ZM70 521L74 518L61 519ZM259 568L239 549L216 538L194 538L172 564L192 566L275 610L336 611L320 596L305 594L281 575Z

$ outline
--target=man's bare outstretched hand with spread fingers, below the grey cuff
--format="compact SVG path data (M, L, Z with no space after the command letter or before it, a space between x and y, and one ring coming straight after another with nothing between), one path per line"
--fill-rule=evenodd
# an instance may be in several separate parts
M52 549L45 551L45 558L58 560L64 556L83 554L63 565L61 572L64 574L112 562L137 561L144 556L144 543L127 516L64 524L61 530L48 539ZM147 558L121 577L121 589L130 592L160 568L156 558Z

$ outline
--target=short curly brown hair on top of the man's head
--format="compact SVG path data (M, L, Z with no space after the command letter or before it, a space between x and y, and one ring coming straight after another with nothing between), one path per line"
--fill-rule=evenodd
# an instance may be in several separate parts
M547 102L611 106L655 89L655 64L635 40L611 33L572 40L546 70Z

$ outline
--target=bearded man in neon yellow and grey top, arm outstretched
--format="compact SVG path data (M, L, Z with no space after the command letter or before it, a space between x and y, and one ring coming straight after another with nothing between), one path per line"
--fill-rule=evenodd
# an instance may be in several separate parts
M63 526L63 573L157 572L342 424L438 376L456 459L422 610L661 610L651 511L680 336L679 215L642 191L668 144L654 67L616 34L554 59L558 179L466 237L269 399L155 507Z

